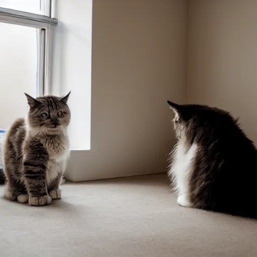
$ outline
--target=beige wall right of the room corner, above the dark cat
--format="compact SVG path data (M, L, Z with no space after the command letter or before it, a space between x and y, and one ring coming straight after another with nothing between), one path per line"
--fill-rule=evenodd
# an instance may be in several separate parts
M257 1L189 0L190 103L231 111L257 144Z

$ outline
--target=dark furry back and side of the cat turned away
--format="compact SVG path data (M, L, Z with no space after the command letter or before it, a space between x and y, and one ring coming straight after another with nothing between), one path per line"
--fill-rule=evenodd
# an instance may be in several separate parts
M217 108L195 112L197 151L189 178L195 208L255 215L257 150L237 119ZM193 126L192 126L193 127ZM192 132L188 132L191 135Z

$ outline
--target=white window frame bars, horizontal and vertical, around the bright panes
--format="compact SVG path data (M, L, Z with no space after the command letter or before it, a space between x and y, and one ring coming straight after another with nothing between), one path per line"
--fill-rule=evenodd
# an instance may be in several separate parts
M53 0L41 0L44 15L0 7L0 22L37 29L37 96L49 95L51 89L53 27L58 20L53 17Z

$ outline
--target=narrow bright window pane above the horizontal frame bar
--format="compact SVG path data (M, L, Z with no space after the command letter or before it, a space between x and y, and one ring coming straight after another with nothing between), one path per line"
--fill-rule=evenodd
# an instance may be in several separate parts
M33 14L43 14L40 11L40 1L41 0L0 0L0 7Z

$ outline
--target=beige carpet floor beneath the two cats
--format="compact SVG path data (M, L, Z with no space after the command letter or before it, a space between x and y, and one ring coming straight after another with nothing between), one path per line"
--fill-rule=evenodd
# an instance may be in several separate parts
M45 207L0 198L1 257L257 256L257 221L179 207L164 174L62 193Z

